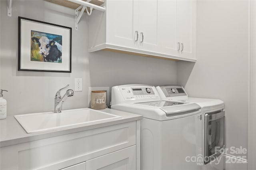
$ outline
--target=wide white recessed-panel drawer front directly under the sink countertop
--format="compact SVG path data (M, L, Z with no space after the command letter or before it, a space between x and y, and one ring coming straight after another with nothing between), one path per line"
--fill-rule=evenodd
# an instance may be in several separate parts
M2 147L0 169L61 169L134 144L135 121Z

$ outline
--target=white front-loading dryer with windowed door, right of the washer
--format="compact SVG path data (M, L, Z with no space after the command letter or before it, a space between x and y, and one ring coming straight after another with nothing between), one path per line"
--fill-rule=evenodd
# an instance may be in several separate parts
M160 98L168 101L192 102L202 109L202 169L224 170L225 157L225 110L219 99L188 97L182 86L162 85L156 87Z

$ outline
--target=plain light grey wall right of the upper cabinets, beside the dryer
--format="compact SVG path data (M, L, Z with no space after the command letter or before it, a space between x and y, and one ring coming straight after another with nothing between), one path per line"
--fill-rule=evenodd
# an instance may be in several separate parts
M227 148L248 148L249 14L249 1L198 1L198 60L178 62L177 81L190 97L225 102Z

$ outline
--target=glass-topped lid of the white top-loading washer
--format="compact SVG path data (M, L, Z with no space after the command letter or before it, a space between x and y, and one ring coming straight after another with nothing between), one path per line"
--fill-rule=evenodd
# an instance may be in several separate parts
M138 105L147 105L151 107L158 107L166 113L166 115L181 115L186 113L192 113L200 111L201 107L196 103L185 103L178 101L152 101L135 103Z

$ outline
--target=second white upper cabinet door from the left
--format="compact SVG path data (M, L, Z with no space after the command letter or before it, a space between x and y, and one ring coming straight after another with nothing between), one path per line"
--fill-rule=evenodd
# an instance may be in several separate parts
M157 51L157 0L135 0L138 8L139 46L146 51ZM137 5L138 4L138 7Z

